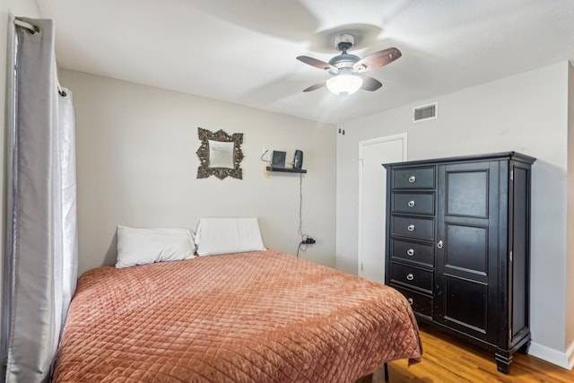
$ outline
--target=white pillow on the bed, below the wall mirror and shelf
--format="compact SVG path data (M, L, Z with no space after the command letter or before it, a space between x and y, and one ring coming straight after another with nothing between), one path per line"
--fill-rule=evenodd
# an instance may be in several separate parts
M265 250L257 218L202 218L196 245L200 256Z

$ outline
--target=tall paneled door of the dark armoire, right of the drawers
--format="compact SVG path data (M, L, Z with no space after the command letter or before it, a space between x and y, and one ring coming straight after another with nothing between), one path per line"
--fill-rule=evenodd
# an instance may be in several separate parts
M435 320L496 341L499 161L439 166Z

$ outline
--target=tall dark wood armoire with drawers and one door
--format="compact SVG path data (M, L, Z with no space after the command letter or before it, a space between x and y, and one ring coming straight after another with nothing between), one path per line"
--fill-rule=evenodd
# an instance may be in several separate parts
M419 321L481 346L509 372L530 344L530 184L517 152L384 164L385 281Z

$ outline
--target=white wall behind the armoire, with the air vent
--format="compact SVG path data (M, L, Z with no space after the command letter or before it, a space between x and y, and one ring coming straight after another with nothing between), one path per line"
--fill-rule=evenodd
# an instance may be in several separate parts
M550 65L346 122L346 134L337 136L337 268L357 269L361 140L407 132L409 160L507 151L534 156L531 353L567 364L568 70L566 62ZM439 118L413 124L413 107L435 100Z

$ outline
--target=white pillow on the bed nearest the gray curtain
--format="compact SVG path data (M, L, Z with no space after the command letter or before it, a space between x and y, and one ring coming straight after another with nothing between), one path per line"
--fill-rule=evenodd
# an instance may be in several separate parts
M193 233L187 229L134 229L117 226L116 268L194 257Z

